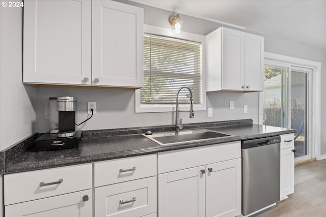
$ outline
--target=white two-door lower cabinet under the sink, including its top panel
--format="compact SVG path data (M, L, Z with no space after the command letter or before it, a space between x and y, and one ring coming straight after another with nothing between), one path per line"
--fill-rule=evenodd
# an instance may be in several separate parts
M229 159L213 158L225 148ZM241 213L240 142L158 153L159 217L237 216ZM198 156L198 151L206 154ZM220 151L219 151L220 150ZM182 156L182 158L181 158ZM161 165L169 159L170 166ZM198 160L201 159L201 160ZM214 161L212 161L214 159ZM223 161L221 161L223 159ZM202 163L187 168L193 163ZM182 162L182 163L180 163ZM179 170L173 171L173 164ZM184 169L180 170L180 164Z

